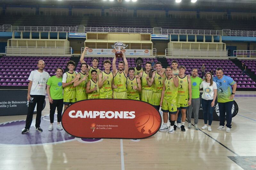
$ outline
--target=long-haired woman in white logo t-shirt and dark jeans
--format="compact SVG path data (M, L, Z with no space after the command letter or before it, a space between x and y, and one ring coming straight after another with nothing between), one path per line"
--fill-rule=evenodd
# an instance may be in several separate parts
M206 73L205 81L200 84L200 88L203 88L202 107L204 119L204 126L201 129L207 128L208 121L208 131L211 131L212 113L217 97L217 85L212 79L212 74L208 72Z

